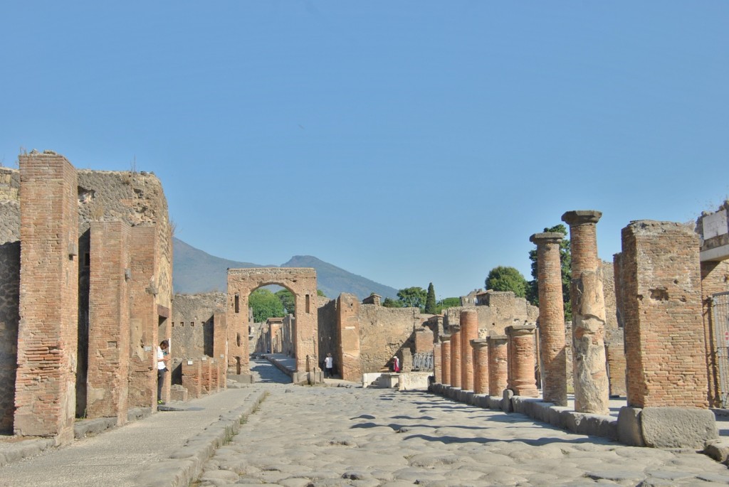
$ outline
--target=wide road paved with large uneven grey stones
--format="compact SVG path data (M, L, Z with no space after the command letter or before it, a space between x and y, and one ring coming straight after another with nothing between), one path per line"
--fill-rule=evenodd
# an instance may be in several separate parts
M268 397L200 487L729 485L727 467L702 454L621 446L424 392L260 387Z

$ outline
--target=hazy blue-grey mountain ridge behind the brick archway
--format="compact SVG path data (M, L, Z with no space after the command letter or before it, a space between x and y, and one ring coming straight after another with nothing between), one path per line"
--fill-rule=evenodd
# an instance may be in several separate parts
M397 299L397 289L352 274L313 256L294 256L281 266L275 264L262 265L211 256L209 253L192 247L192 245L177 238L173 239L173 245L174 272L172 285L176 293L225 292L227 288L227 269L229 268L313 267L313 269L316 269L317 286L329 298L336 298L341 293L350 293L362 299L370 296L370 293L375 293L383 298Z

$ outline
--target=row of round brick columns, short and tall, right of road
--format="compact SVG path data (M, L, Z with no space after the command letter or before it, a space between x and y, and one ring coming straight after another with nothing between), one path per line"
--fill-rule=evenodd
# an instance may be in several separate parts
M609 384L605 357L605 304L601 261L597 254L596 223L602 213L569 211L562 221L569 225L572 243L572 349L574 410L609 412ZM539 282L539 362L542 397L555 405L567 405L567 359L560 245L564 235L543 232L531 235L537 245ZM440 337L441 370L436 380L476 394L537 397L535 325L507 327L504 336L478 338L474 310L461 312L460 325Z

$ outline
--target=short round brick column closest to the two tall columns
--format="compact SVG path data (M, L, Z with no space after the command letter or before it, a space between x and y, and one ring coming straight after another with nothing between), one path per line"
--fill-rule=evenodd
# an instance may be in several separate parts
M537 379L534 377L534 332L535 325L507 326L509 337L509 389L515 395L537 397Z

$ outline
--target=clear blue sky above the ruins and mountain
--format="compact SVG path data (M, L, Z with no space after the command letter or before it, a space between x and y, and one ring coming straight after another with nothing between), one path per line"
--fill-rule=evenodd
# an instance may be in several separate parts
M0 161L153 171L177 237L394 288L729 194L729 1L6 1Z

